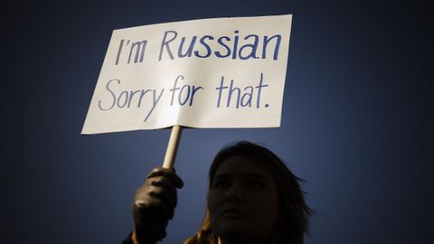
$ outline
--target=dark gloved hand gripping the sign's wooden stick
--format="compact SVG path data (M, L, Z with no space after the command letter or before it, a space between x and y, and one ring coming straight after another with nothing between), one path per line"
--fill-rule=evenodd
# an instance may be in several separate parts
M165 238L165 227L174 218L176 188L184 186L175 169L157 167L146 177L134 197L134 227L138 243L154 244Z

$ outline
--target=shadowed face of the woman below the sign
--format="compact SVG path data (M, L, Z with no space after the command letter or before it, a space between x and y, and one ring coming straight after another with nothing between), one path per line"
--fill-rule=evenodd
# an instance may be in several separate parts
M224 239L267 240L273 236L278 189L265 164L235 155L224 160L213 175L208 209L212 231L223 243Z

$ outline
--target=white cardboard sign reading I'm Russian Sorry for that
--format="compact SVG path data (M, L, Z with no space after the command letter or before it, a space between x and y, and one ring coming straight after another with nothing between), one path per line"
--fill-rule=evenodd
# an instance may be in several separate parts
M279 127L292 15L115 30L81 134Z

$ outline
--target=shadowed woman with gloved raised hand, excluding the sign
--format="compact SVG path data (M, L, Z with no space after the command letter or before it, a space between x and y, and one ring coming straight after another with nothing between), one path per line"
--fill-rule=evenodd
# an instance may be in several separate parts
M200 230L184 244L302 244L312 211L300 179L269 149L242 141L212 161L207 210ZM127 243L154 244L165 238L174 216L174 170L156 168L137 190L135 230Z

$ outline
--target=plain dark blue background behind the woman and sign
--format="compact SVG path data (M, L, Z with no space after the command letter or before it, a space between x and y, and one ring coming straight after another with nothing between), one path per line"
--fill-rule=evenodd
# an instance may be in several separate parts
M306 243L431 243L432 11L416 1L17 1L2 4L1 243L119 243L169 130L80 136L112 30L294 14L282 127L188 129L165 243L203 218L212 156L261 142L307 180ZM4 153L5 152L5 153Z

